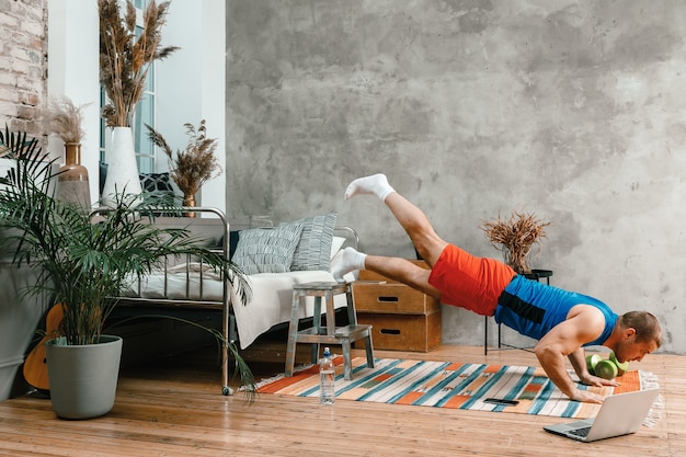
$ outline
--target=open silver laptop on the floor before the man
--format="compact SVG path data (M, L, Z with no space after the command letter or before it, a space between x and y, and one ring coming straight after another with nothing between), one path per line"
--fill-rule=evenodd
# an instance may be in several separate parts
M581 442L594 442L634 433L650 412L658 389L609 396L595 418L564 424L546 425L546 432Z

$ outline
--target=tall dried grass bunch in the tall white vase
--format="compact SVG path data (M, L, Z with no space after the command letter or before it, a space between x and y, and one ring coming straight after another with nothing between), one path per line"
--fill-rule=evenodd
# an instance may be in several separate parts
M98 0L100 13L100 82L108 103L102 116L108 127L130 127L136 105L142 96L150 64L163 59L176 46L161 47L161 28L169 1L151 0L136 33L136 8L126 1L126 15L119 15L117 0Z

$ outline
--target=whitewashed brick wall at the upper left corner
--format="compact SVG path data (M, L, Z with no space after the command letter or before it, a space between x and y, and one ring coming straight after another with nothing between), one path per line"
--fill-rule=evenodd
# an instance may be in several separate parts
M46 77L47 0L0 0L0 128L38 134Z

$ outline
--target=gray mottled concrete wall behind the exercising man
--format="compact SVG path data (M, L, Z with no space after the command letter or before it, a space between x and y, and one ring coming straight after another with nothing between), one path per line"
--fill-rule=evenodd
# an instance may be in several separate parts
M535 213L534 267L654 312L685 354L685 23L681 1L229 0L228 212L338 210L364 251L411 256L378 201L342 197L384 171L494 258L480 224ZM443 317L444 342L482 342L483 318Z

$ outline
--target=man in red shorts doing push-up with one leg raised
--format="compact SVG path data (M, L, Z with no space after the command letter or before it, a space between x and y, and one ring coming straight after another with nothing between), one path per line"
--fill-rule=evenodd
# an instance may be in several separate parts
M502 262L473 256L444 241L424 213L397 193L386 175L353 181L345 198L364 194L386 203L431 270L404 259L367 255L346 248L333 270L336 281L354 270L370 270L443 304L493 316L498 323L538 340L534 352L541 367L564 395L578 401L599 403L604 398L578 388L567 372L564 356L584 385L617 386L614 380L588 373L583 346L609 347L624 363L641 361L662 345L660 323L649 312L617 316L595 298L529 281Z

